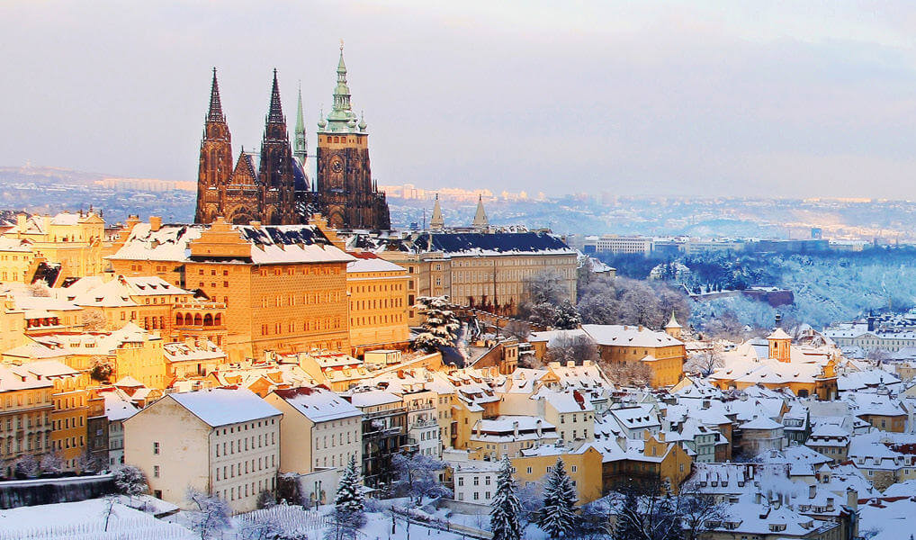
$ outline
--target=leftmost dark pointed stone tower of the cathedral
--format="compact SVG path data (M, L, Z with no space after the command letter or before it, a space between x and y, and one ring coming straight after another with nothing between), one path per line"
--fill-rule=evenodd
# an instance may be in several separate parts
M223 115L220 102L220 87L216 83L216 68L213 68L213 83L210 88L210 109L203 125L201 140L201 162L197 172L197 211L194 221L210 223L221 211L221 191L233 171L232 136Z

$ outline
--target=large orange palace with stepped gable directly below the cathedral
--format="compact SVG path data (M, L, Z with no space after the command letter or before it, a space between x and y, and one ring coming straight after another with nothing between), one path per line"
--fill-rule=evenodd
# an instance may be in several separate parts
M230 361L267 350L349 350L347 263L355 259L319 226L150 221L132 225L108 258L114 270L127 280L157 276L218 303Z

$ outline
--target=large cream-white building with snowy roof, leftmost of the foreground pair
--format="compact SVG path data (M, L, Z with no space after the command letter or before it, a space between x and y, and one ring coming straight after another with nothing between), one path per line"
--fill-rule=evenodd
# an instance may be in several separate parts
M281 418L247 390L172 393L125 420L125 461L158 499L190 508L192 487L248 512L277 487Z

